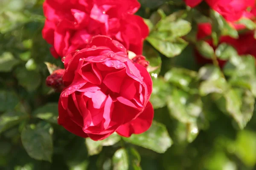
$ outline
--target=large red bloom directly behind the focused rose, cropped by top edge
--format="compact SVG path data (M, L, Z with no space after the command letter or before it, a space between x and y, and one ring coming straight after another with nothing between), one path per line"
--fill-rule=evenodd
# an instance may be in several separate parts
M149 30L143 18L134 15L140 8L137 0L46 0L43 8L47 19L42 34L56 58L85 48L98 34L142 54Z

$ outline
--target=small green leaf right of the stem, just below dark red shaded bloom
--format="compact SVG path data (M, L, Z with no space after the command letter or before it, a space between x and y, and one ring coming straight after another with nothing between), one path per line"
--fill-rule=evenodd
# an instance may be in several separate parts
M237 55L236 49L226 43L221 43L215 50L215 54L219 59L227 60L230 57Z

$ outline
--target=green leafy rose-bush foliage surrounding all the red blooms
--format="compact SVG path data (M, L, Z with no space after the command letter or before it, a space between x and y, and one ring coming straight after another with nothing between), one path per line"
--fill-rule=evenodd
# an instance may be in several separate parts
M57 124L59 94L45 85L44 62L63 64L41 36L43 1L0 0L0 169L255 168L255 59L238 56L224 43L214 51L196 40L197 24L209 20L216 44L221 35L238 37L220 15L207 16L183 0L139 0L137 14L151 30L143 54L151 63L154 122L143 134L122 138L114 133L94 142ZM195 49L228 62L222 70L216 62L199 65Z

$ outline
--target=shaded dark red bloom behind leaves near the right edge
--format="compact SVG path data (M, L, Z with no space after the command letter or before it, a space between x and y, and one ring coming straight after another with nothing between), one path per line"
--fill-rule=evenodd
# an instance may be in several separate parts
M211 33L212 33L212 26L210 23L198 24L197 39L198 40L204 39L215 50L217 47L215 47L213 45L212 39L210 37ZM253 31L248 31L244 34L239 34L238 39L235 39L235 38L232 38L229 36L222 36L219 41L219 44L221 44L221 43L227 43L229 45L232 45L236 49L236 51L238 52L239 55L250 54L250 55L256 57L256 51L255 51L256 39L254 38ZM198 53L198 51L196 51L196 59L201 64L212 62L211 59L206 59L206 58L202 57ZM225 60L221 60L221 59L218 59L218 62L221 67L223 67L224 64L226 63Z

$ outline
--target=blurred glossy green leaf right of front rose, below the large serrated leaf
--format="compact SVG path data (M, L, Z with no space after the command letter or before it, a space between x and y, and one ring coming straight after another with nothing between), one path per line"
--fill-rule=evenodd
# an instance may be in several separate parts
M197 72L185 68L172 68L164 75L166 82L170 82L184 91L197 93L198 87L193 88L196 84ZM193 89L192 89L193 88Z

